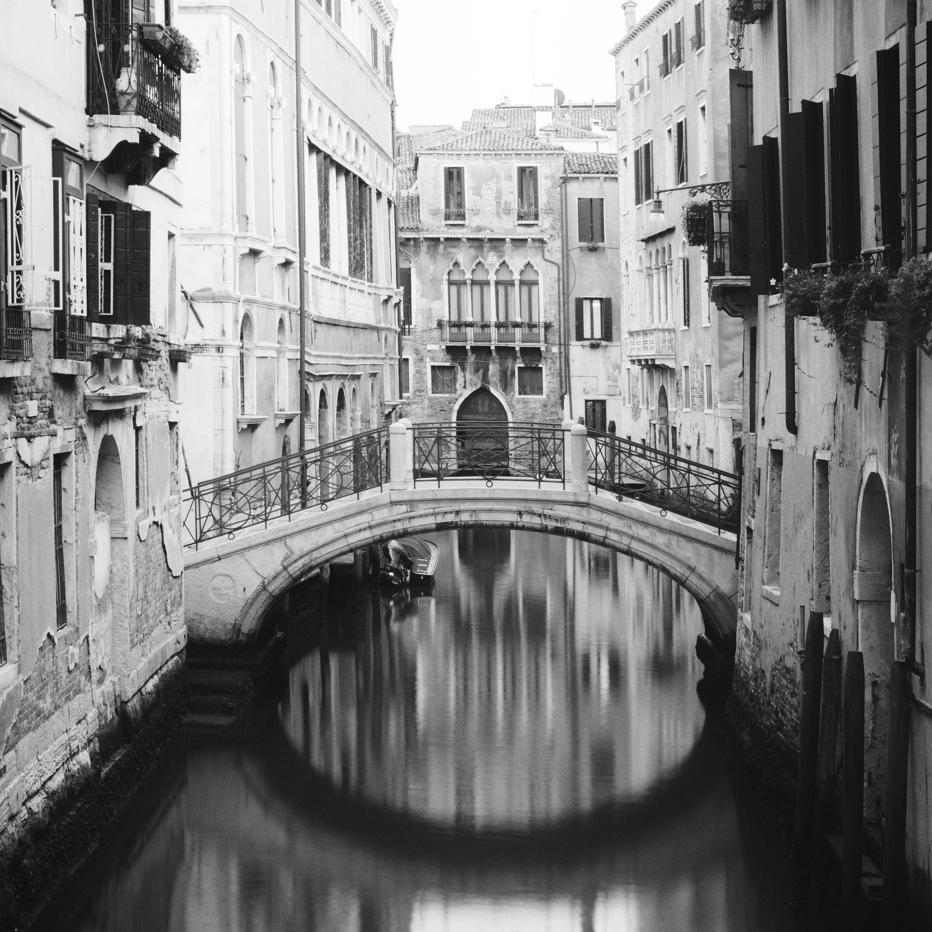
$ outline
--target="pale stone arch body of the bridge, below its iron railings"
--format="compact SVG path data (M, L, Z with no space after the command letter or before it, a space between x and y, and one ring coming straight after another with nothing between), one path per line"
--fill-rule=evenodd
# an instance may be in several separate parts
M397 433L401 444L404 433ZM583 435L577 443L582 456ZM398 466L406 466L406 451L403 456L396 449ZM397 475L395 469L391 472ZM242 530L232 539L202 543L197 550L189 547L189 640L227 647L253 643L276 599L291 586L336 557L370 544L448 528L492 527L575 537L661 569L699 603L712 641L720 650L733 650L734 535L649 504L599 494L586 485L585 473L575 473L566 487L562 482L514 479L446 479L435 487L422 482L411 487L405 476L404 483L396 480L398 487L375 488L359 499L335 500L325 508Z

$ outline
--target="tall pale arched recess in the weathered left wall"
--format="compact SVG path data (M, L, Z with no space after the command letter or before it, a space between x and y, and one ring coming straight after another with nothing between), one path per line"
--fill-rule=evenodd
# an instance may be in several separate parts
M130 655L130 532L122 459L104 435L94 475L94 601L91 674L95 684L127 671Z

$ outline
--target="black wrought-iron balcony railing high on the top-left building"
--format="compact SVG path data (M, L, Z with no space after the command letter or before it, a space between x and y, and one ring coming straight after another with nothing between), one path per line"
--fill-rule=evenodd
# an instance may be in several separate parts
M144 43L142 26L132 26L128 10L94 2L111 15L97 18L97 42L89 35L87 44L89 116L136 115L181 139L181 69Z

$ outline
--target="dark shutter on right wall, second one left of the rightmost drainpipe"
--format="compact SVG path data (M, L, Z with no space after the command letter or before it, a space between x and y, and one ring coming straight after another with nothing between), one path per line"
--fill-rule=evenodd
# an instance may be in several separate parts
M835 75L829 97L832 163L832 259L857 262L861 257L861 189L857 160L857 78Z

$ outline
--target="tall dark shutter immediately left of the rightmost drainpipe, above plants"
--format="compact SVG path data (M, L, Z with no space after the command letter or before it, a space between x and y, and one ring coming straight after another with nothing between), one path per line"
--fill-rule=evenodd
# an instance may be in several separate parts
M903 245L899 174L899 47L877 52L877 142L880 156L880 216L893 268Z

